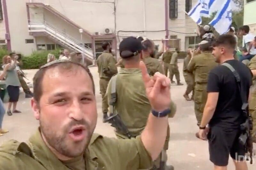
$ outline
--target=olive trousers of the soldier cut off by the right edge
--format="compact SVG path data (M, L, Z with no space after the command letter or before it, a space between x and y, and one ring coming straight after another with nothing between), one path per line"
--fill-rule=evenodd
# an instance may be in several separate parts
M252 137L256 138L256 91L252 92L249 100L249 113L252 115L253 120Z

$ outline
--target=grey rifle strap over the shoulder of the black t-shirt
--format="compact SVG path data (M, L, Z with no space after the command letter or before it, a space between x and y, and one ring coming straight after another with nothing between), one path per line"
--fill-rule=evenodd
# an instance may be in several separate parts
M239 93L240 93L240 96L241 96L241 100L242 100L242 111L245 113L246 117L248 117L248 112L247 112L247 108L248 108L248 100L247 100L247 97L245 94L243 94L242 90L241 90L241 79L240 79L240 76L239 74L237 73L237 71L234 69L233 66L231 66L230 64L228 63L223 63L221 64L223 66L226 66L228 67L228 69L234 74L235 76L235 79L236 79L236 83L237 83L237 86L238 86L238 90L239 90Z

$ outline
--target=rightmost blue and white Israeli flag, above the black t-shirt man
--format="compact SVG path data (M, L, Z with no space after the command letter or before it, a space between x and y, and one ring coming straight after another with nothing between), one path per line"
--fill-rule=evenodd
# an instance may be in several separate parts
M232 8L230 2L231 0L224 0L220 10L209 23L220 35L227 33L232 24Z

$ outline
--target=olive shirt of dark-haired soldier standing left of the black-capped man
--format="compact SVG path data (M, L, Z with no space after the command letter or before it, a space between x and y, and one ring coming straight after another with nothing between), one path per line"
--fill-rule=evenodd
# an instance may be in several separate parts
M117 73L116 59L107 51L103 51L103 53L98 57L97 66L100 78L110 79Z

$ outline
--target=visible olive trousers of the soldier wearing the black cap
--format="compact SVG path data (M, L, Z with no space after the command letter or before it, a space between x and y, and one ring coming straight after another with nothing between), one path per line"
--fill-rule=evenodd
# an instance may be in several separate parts
M125 135L119 135L119 133L116 133L116 137L118 138L118 139L128 139L128 137L127 136L125 136ZM136 137L136 136L135 136ZM135 138L134 137L134 138ZM168 148L169 148L169 140L170 140L170 127L169 127L169 125L168 125L168 127L167 127L167 135L166 135L166 139L165 139L165 142L164 142L164 149L163 149L163 151L162 151L162 155L160 154L158 157L157 157L157 159L154 161L154 163L153 163L153 167L154 168L159 168L160 167L160 162L161 162L161 160L162 161L164 161L165 162L165 165L166 165L166 162L167 162L167 150L168 150ZM161 158L162 157L162 158ZM150 170L154 170L154 168L151 168Z

